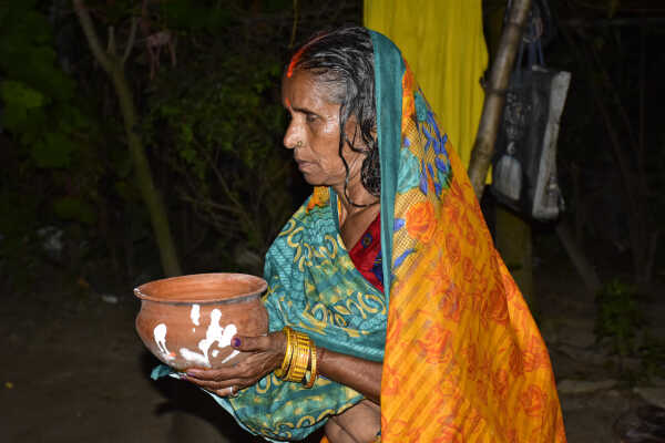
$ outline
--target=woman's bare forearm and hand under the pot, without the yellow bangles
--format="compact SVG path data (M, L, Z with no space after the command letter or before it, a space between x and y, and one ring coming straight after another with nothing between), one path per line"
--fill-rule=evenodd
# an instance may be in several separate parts
M286 337L277 331L265 337L239 337L232 346L243 352L253 352L237 365L216 370L191 369L186 380L218 395L231 394L231 387L237 392L248 388L282 365L286 351ZM345 384L379 403L381 392L380 362L364 360L317 347L318 373Z

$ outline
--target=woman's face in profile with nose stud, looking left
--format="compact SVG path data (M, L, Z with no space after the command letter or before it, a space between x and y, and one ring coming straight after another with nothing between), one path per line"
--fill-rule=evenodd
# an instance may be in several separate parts
M282 83L282 102L290 115L284 146L294 150L294 158L305 181L316 186L344 186L346 171L339 157L339 103L332 103L324 83L308 71L296 70ZM354 123L347 123L352 140ZM349 131L347 131L349 132ZM359 171L360 156L345 146L350 176Z

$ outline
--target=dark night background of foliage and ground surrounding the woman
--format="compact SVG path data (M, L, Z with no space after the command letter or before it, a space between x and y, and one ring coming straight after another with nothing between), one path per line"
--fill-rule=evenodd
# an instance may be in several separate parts
M183 272L260 274L270 239L309 193L282 148L284 63L313 32L361 23L361 2L88 6L104 48L110 28L119 54L133 41L124 64L133 131ZM491 53L504 7L483 2ZM556 377L601 383L562 390L570 441L611 441L626 414L647 400L663 404L665 7L550 8L545 60L573 79L557 158L566 210L552 223L520 218L531 229L534 310ZM164 40L151 47L157 34ZM200 392L147 380L155 360L133 332L132 288L164 271L117 103L69 1L0 6L0 440L161 441L176 432L172 412L186 410L246 441ZM493 224L502 209L483 204ZM596 292L557 224L591 264ZM594 426L607 436L594 440L603 432Z

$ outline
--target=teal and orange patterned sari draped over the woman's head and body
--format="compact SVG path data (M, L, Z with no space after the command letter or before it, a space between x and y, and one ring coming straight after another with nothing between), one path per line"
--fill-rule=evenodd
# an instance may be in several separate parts
M385 290L356 269L327 187L266 255L269 329L382 361L382 442L565 442L549 354L495 251L466 171L399 50L370 31ZM247 431L300 440L364 399L273 373L217 402Z

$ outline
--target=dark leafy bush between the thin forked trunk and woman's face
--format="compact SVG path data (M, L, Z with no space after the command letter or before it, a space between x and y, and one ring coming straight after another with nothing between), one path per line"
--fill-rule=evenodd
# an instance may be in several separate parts
M233 255L229 245L242 244L260 257L293 209L280 147L282 68L266 54L212 52L219 55L162 78L144 134L183 178L181 197L217 230L222 249Z

